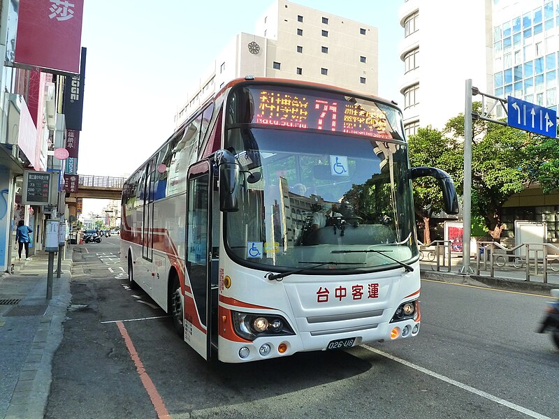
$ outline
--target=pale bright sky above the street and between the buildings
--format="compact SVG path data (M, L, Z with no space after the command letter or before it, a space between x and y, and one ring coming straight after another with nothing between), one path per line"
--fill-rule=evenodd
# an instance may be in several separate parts
M379 96L401 104L403 0L293 0L379 29ZM86 0L78 173L122 177L172 133L187 89L236 34L254 34L273 0ZM219 12L217 11L219 10ZM106 200L84 201L83 213Z

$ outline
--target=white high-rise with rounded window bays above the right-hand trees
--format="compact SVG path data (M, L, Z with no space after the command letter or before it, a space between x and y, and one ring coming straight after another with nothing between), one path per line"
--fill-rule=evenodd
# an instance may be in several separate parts
M443 128L464 112L466 79L493 91L492 3L407 0L400 6L400 93L408 135L428 125Z

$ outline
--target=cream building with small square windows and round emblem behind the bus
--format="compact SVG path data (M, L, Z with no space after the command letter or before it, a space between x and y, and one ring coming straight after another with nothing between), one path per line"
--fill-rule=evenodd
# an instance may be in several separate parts
M177 126L226 82L245 75L377 94L377 28L286 0L275 1L255 28L254 34L235 36L217 54L189 90L187 102L175 116Z

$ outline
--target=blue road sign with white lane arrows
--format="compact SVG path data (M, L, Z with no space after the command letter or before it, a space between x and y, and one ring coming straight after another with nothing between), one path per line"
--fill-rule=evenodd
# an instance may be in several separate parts
M547 137L557 136L557 112L534 103L521 101L512 96L507 97L507 124Z

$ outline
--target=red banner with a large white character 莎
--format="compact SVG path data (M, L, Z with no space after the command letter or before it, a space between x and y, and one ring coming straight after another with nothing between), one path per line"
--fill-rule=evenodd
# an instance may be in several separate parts
M84 0L20 0L14 65L80 73Z

